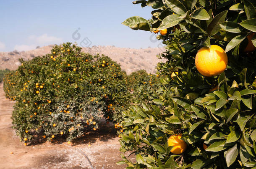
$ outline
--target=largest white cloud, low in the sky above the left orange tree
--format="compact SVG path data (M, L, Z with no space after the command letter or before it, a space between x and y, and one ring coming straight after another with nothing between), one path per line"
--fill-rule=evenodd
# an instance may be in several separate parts
M55 36L48 36L47 33L40 36L31 35L29 36L29 40L34 43L37 43L38 45L44 45L44 44L50 45L53 43L57 44L57 43L63 42L62 38L57 38Z

